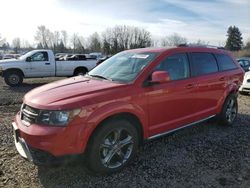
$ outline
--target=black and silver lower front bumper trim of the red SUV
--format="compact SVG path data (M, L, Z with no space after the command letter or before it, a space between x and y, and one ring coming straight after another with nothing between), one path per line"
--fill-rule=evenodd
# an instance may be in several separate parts
M20 130L18 129L15 122L12 123L13 127L13 137L16 149L18 153L25 159L33 162L35 165L56 165L56 164L63 164L68 163L73 160L76 160L80 156L79 155L64 155L60 157L56 157L46 151L33 148L29 146L26 141L21 138Z

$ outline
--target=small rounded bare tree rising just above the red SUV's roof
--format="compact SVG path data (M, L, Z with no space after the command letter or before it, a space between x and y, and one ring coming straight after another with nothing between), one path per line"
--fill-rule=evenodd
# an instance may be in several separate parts
M166 36L163 40L161 45L162 46L177 46L179 44L186 44L187 39L185 37L180 36L177 33L174 33L172 35Z

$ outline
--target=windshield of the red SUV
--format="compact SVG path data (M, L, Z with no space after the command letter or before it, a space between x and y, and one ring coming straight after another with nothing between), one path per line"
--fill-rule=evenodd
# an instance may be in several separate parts
M139 73L155 59L158 53L121 52L104 61L92 71L89 76L107 80L129 83L135 80Z

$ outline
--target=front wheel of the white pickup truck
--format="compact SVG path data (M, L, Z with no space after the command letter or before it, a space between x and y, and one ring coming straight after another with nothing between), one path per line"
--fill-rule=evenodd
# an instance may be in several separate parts
M4 81L9 86L18 86L23 82L23 75L18 71L9 71L5 73Z

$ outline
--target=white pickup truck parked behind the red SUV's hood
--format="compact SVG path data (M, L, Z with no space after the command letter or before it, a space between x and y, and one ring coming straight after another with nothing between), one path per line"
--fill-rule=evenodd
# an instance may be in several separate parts
M18 59L0 60L0 75L9 86L17 86L23 78L83 75L96 66L96 60L55 61L51 50L33 50Z

